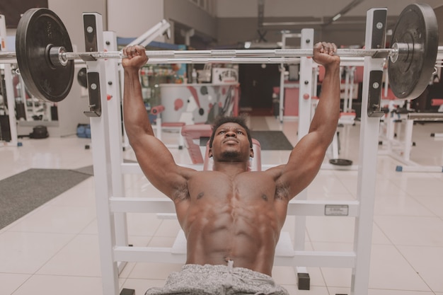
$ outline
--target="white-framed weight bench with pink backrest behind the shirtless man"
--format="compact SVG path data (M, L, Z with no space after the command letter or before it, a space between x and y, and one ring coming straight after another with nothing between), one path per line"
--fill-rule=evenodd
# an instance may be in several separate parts
M200 161L200 168L209 169L210 162L207 151L200 152L200 142L207 146L207 141L203 144L203 137L210 137L212 127L209 125L185 125L182 128L182 135L186 146L193 153L193 161L199 162L197 155L205 155L207 161ZM253 140L255 157L251 161L251 170L261 170L260 144ZM124 163L123 166L134 166L132 169L125 168L127 172L137 170L141 173L137 163ZM137 166L137 167L136 167ZM196 168L195 165L190 167ZM146 197L110 197L110 211L114 213L153 213L159 218L176 219L176 210L171 199L166 197L146 198ZM294 216L358 216L358 201L318 201L292 199L289 202L287 214ZM330 212L330 214L328 213ZM296 237L297 238L297 237ZM113 247L113 257L115 261L125 262L159 262L159 263L179 263L186 261L186 239L183 231L179 231L172 247L132 247L126 245L115 245ZM288 267L355 267L356 254L350 252L337 251L307 251L295 250L289 232L282 231L280 239L275 249L274 265ZM309 289L310 278L308 273L297 273L297 284L299 289Z

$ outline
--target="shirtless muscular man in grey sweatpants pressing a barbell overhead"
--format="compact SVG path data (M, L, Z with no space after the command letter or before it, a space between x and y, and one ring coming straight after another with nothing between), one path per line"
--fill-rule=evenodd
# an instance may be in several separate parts
M340 114L340 57L336 46L318 42L313 60L325 66L320 102L306 134L287 163L248 171L253 157L251 135L240 118L214 125L211 171L178 166L154 137L142 100L139 69L144 47L123 50L124 122L127 137L146 178L172 199L187 238L187 260L164 288L146 294L287 294L272 280L275 246L289 200L318 173Z

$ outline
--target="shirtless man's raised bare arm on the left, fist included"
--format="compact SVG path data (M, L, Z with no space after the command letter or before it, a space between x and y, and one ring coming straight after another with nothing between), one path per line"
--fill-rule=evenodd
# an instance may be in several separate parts
M125 71L123 118L127 137L146 178L175 199L177 192L183 190L190 169L177 166L171 152L154 136L139 82L139 69L147 62L144 47L126 47L124 53L127 58L122 59Z

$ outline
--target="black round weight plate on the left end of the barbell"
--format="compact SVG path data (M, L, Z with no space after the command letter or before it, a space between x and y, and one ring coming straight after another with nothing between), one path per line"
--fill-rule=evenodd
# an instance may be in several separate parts
M66 66L54 66L49 55L53 46L72 52L69 34L60 18L47 8L26 11L16 33L18 69L33 96L55 103L71 91L74 61L69 60Z

